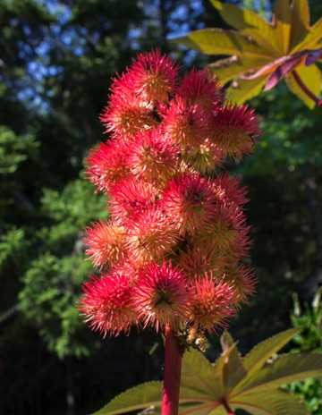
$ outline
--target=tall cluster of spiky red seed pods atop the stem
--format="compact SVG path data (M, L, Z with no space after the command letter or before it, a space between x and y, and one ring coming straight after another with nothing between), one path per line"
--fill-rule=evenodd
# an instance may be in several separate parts
M245 190L215 174L250 153L258 121L225 103L208 70L182 79L159 51L114 79L101 120L109 139L88 157L89 180L110 218L88 227L87 254L101 275L79 308L104 335L165 325L212 333L254 291Z

